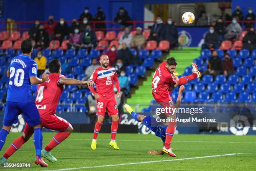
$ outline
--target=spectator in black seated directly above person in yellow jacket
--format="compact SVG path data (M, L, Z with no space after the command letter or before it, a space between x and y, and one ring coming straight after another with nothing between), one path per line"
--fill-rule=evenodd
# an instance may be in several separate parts
M50 40L48 33L44 30L44 25L40 25L36 33L36 45L35 48L47 48L49 46Z

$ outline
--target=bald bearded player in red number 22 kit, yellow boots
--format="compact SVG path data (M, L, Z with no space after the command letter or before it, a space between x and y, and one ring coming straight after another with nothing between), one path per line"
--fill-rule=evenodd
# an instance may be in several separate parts
M117 143L115 142L115 136L118 130L118 105L115 100L115 93L113 87L113 81L115 81L115 87L117 89L117 97L120 98L120 87L118 77L115 68L108 66L109 59L107 55L102 55L100 57L101 66L95 71L93 71L90 81L95 82L96 91L93 87L89 87L91 92L94 94L95 99L97 99L97 113L98 116L97 123L95 124L93 139L91 148L96 150L96 140L97 135L100 132L101 125L104 121L105 112L108 111L108 115L112 117L111 125L111 141L109 145L116 150L119 150Z

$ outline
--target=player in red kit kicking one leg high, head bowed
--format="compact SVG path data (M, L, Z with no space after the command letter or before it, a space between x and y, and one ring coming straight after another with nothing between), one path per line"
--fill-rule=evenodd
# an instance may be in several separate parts
M201 73L198 71L197 65L192 62L192 74L184 77L178 78L174 72L177 66L177 61L173 57L167 59L160 64L156 69L156 72L152 80L152 94L156 102L161 105L162 108L171 107L174 108L174 104L170 97L172 89L177 85L187 84L192 79L200 78ZM173 110L165 111L166 117L172 117L175 120L175 115ZM162 151L170 156L176 157L170 148L172 141L172 136L176 128L176 122L169 122L166 128L166 139L164 148Z

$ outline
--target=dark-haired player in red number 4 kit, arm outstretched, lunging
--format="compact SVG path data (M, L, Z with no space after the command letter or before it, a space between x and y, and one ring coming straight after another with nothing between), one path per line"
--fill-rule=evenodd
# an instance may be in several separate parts
M79 81L76 79L69 79L64 75L61 75L61 63L58 59L54 59L49 62L49 80L39 84L36 96L36 107L40 113L42 120L42 127L59 131L41 151L42 157L48 159L51 162L56 162L56 158L51 155L51 149L59 145L72 133L72 125L61 117L55 115L56 108L61 97L61 93L64 89L63 85L75 85L75 84L87 84L93 86L93 82ZM23 135L13 141L10 147L7 149L1 160L8 159L15 151L17 151L28 139L33 135L33 127L30 127L27 123L23 131Z

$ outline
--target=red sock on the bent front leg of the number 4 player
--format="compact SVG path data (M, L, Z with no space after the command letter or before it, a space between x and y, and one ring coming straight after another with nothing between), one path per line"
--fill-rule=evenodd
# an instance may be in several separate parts
M57 145L59 145L62 141L64 141L66 138L68 138L70 135L69 132L59 132L57 133L52 140L50 141L50 143L46 146L45 151L51 151L51 149L53 149L54 147L56 147Z

